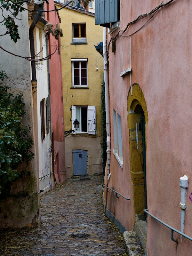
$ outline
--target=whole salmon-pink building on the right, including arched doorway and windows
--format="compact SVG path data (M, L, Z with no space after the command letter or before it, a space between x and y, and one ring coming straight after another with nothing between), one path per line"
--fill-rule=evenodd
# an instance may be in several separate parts
M121 232L143 227L145 255L190 256L192 3L96 0L95 9L106 27L105 212Z

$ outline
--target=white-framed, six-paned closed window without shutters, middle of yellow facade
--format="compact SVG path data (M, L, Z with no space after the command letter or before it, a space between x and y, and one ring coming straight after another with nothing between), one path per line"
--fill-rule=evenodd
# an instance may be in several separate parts
M72 86L87 87L87 59L71 59L72 63Z

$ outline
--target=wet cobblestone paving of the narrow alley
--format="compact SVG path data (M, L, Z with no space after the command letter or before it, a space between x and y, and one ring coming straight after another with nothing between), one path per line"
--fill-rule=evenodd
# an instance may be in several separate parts
M126 255L122 235L106 218L96 188L101 175L67 179L42 195L41 227L0 230L0 255Z

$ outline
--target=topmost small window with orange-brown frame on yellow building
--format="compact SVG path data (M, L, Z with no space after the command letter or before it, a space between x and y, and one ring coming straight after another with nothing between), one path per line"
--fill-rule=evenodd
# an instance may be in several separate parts
M86 43L86 23L73 23L72 34L72 43Z

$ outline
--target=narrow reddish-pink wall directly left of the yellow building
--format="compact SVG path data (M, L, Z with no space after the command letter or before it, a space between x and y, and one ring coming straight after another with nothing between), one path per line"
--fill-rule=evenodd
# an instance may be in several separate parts
M46 10L54 10L54 1L45 3ZM56 11L45 13L45 18L52 25L59 25L59 16ZM51 131L53 145L53 171L57 183L66 181L65 171L65 137L64 137L64 116L63 116L63 86L61 67L61 47L59 41L51 34L49 35L49 54L53 53L56 46L59 48L49 59L50 69L50 98L51 98ZM56 157L58 156L58 158ZM57 163L57 159L59 163Z

